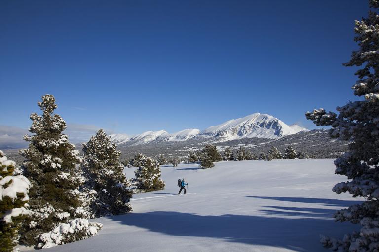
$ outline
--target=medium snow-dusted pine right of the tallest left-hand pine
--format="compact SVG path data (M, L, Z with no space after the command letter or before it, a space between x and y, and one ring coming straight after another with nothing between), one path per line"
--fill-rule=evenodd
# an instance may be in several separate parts
M131 210L128 202L132 194L127 189L130 185L119 161L121 152L116 147L102 129L88 143L83 143L85 189L96 192L89 207L97 218Z

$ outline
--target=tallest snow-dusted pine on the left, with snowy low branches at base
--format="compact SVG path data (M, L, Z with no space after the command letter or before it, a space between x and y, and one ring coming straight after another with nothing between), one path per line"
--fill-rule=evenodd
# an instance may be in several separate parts
M43 114L39 116L33 113L30 116L32 126L29 131L33 135L24 136L30 142L29 148L20 151L26 158L23 164L25 176L32 185L29 190L30 214L20 233L23 243L46 248L89 237L101 225L90 223L80 230L73 230L74 233L62 234L59 241L53 239L57 238L56 234L53 234L53 238L47 235L59 223L81 217L77 189L82 181L76 177L76 165L80 163L79 151L62 133L66 129L66 122L54 114L57 108L54 96L43 95L38 106Z

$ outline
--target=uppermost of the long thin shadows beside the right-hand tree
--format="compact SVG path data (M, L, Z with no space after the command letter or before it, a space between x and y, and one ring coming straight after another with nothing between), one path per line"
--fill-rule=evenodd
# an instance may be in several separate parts
M362 203L362 201L357 201L357 200L303 198L303 197L262 197L262 196L246 196L246 197L257 198L257 199L272 199L272 200L289 201L289 202L315 203L315 204L320 204L323 206L334 206L334 207L347 207L347 206Z

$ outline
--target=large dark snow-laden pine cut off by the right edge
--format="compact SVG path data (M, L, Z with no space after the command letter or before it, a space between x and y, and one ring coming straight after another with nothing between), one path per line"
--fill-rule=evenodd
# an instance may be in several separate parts
M347 176L347 182L334 186L337 194L349 192L366 201L342 209L334 214L335 221L361 224L360 232L344 236L343 240L323 237L321 243L338 252L379 251L379 1L369 0L368 18L355 21L354 51L345 66L357 66L358 80L353 85L354 95L364 100L337 107L339 115L324 109L307 112L306 118L318 126L332 126L333 138L350 140L349 152L334 162L336 174Z

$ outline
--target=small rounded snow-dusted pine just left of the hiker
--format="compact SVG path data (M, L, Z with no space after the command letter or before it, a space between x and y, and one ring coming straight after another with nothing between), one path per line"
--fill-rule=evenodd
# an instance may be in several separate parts
M145 192L163 190L166 185L160 178L159 163L152 158L143 159L135 175L133 184L137 189Z

